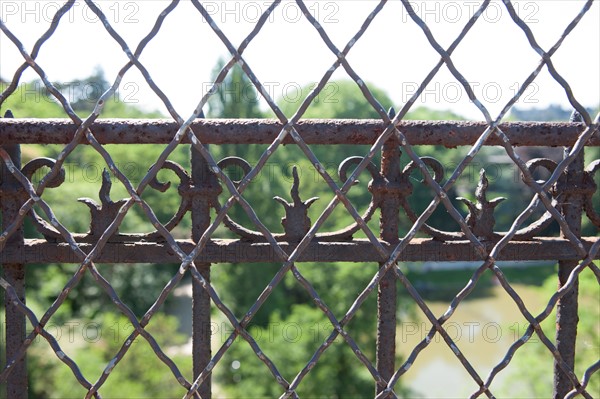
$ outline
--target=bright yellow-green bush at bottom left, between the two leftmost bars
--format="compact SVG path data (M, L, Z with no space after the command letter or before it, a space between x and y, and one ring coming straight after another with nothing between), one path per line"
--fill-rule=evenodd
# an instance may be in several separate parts
M189 380L191 357L176 353L186 341L186 337L177 332L177 319L158 313L146 329L161 345L162 350L172 352L170 357ZM70 345L63 339L61 345L78 365L83 376L94 383L133 332L133 326L124 316L105 313L96 322L72 320L61 331L65 334L68 331L68 334L77 338ZM71 369L59 361L49 345L36 342L30 354L29 379L35 397L66 399L85 396L87 390L75 379ZM186 390L179 385L171 370L160 361L148 342L138 336L123 359L112 369L99 392L103 398L115 399L172 398L183 396Z

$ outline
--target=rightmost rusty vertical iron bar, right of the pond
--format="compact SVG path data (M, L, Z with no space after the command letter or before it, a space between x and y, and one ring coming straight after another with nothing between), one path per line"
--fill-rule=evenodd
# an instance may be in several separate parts
M574 120L572 122L580 122ZM564 155L570 152L570 147L565 147ZM566 182L562 213L569 225L571 231L581 237L581 216L583 209L583 195L578 187L583 184L584 178L584 152L583 149L566 169ZM562 287L569 278L571 271L577 266L576 260L562 260L558 262L558 288ZM577 340L577 323L579 322L578 312L578 294L579 281L575 282L571 292L563 296L556 307L556 348L563 360L571 368L575 368L575 343ZM554 398L564 398L565 395L573 389L573 384L567 375L560 369L556 361L554 362Z

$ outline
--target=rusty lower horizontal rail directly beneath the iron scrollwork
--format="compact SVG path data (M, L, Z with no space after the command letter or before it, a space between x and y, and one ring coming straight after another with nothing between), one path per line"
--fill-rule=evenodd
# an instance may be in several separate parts
M586 251L597 241L596 237L583 237ZM189 253L195 244L192 240L177 240L183 251ZM381 244L388 251L387 243ZM89 252L93 243L78 243L84 252ZM486 245L491 250L495 243ZM280 243L281 248L291 252L296 244ZM532 241L511 241L500 253L497 260L569 260L577 259L577 250L569 240L561 238L536 238ZM600 259L600 252L596 254ZM197 258L206 263L256 263L279 262L278 254L267 243L250 243L243 240L218 239L211 240ZM355 239L350 242L312 242L299 256L299 262L381 262L385 260L366 239ZM477 261L472 243L468 240L440 242L430 238L415 238L398 257L398 261ZM52 243L43 239L25 240L23 246L7 247L0 253L0 262L21 263L80 263L67 243ZM179 258L167 243L160 242L109 242L96 259L99 263L180 263Z

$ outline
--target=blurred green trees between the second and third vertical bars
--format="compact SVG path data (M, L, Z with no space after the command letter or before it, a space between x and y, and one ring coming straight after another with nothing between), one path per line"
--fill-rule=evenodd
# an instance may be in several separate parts
M245 75L239 75L241 82L237 87L246 87L250 83ZM237 78L236 78L237 79ZM326 101L321 95L311 105L307 118L377 118L375 110L367 103L364 96L354 82L332 82L335 87L336 97ZM391 101L385 93L373 88L373 93L382 101L385 107ZM302 90L302 95L307 95L309 88ZM236 113L245 109L239 104L230 104L235 98L242 98L241 94L229 93L229 99L216 97L218 105L212 109L224 110L223 116L229 117L260 117L255 113ZM336 101L337 100L337 101ZM278 101L284 113L291 116L299 104ZM211 114L220 117L220 114ZM219 146L212 149L219 155L238 155L250 163L256 162L264 151L265 146ZM336 176L337 166L348 156L363 155L367 152L366 146L343 145L336 146L336 151L331 151L325 146L311 146L311 150L325 165L329 173L340 184ZM244 192L255 212L271 231L281 231L280 218L283 209L270 199L264 198L264 192L277 193L290 200L290 165L297 165L302 172L300 180L300 193L303 199L319 196L313 207L310 217L314 222L323 211L333 193L316 173L311 162L308 161L296 146L280 147L269 159L270 164L277 168L274 175L269 174L268 186L262 180L253 182ZM370 194L366 184L370 177L365 172L362 187L353 189L351 198L360 211L366 209ZM258 189L252 192L253 189ZM268 190L268 191L267 191ZM228 195L227 195L228 196ZM306 197L306 198L305 198ZM313 209L314 208L314 209ZM235 209L230 215L236 220L244 220L244 225L254 228L244 212ZM323 226L322 231L332 231L350 225L353 219L347 211L340 206ZM378 230L378 220L371 222L371 228ZM361 233L357 233L361 236ZM326 303L338 318L342 318L348 311L356 296L367 286L377 270L376 264L349 265L343 263L302 263L298 264L302 274L314 286L321 299ZM225 303L232 308L234 313L241 317L254 303L261 291L281 268L281 263L268 264L231 264L213 269L213 283L224 298ZM359 345L360 349L372 362L375 361L375 334L376 330L376 295L371 295L363 304L355 320L347 327L348 331ZM217 318L220 316L216 316ZM227 323L225 322L225 325ZM282 375L291 381L302 367L308 362L310 356L331 333L333 326L326 316L318 309L305 289L291 273L288 273L277 288L270 294L268 300L252 320L251 334L257 340L261 350L271 357ZM294 334L294 335L290 335ZM226 339L228 334L223 336ZM224 341L222 341L224 342ZM222 343L221 342L221 343ZM249 345L238 338L234 346L226 353L222 364L215 369L216 382L223 387L226 394L239 396L278 396L281 392L273 380L268 369L260 364L260 360L253 353ZM327 349L323 357L306 377L305 382L298 390L301 396L326 395L334 397L368 397L374 392L374 381L367 369L360 364L350 347L338 338L336 343ZM398 392L404 392L402 387Z

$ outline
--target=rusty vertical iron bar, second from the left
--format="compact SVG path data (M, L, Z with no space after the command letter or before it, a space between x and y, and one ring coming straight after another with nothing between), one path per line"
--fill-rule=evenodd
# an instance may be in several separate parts
M192 239L198 242L210 225L210 195L215 184L206 160L200 152L191 147L192 181L196 190L192 199ZM218 184L218 183L216 183ZM207 282L210 282L210 263L194 263ZM212 357L210 349L210 296L202 285L192 279L192 340L194 378L198 377ZM200 397L211 397L211 377L198 389Z

